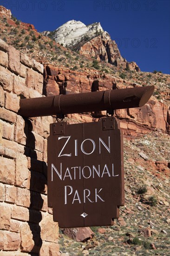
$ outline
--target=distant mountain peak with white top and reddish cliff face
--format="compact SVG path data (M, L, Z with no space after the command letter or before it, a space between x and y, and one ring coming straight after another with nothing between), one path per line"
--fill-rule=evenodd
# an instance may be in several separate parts
M135 62L128 62L121 56L116 42L111 40L110 34L103 30L99 22L86 26L81 21L70 20L56 30L44 31L42 34L85 57L95 58L118 68L140 71Z

